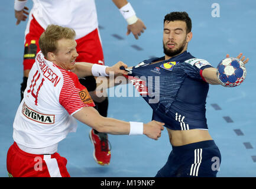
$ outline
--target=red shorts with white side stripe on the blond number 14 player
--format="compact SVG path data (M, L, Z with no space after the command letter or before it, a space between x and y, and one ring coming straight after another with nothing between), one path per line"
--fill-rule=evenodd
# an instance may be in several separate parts
M51 155L28 154L16 142L7 153L9 177L70 177L66 165L67 159L57 152Z

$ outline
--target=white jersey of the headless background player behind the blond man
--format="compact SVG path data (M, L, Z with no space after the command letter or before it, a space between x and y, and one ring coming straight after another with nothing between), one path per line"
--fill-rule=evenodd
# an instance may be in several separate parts
M98 28L95 0L33 0L31 14L41 27L57 24L73 28L76 39Z

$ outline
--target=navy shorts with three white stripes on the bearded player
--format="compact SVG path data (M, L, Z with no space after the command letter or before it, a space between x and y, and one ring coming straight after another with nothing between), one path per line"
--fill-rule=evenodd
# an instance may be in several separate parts
M212 140L173 146L155 177L216 177L220 165L221 152Z

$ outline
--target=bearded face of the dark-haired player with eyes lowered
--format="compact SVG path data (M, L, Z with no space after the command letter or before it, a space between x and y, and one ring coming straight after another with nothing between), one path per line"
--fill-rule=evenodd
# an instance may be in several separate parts
M164 22L163 48L166 59L187 50L187 43L192 38L192 32L187 34L186 29L187 25L184 21Z

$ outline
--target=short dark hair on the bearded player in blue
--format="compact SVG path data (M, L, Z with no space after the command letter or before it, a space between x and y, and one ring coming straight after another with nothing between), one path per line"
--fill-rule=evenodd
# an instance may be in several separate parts
M192 21L189 18L189 14L187 14L187 12L170 12L164 17L164 22L177 20L186 22L187 33L192 30Z

